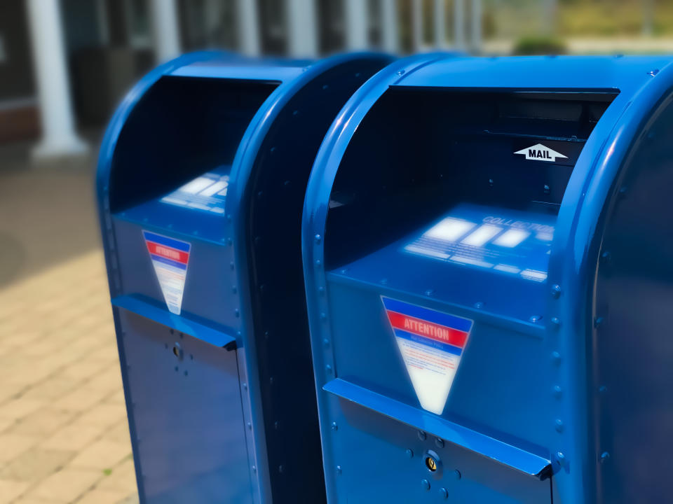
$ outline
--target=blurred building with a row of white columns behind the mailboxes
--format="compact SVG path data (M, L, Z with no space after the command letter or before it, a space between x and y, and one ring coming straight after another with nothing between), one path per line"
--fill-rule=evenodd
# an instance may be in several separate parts
M449 31L460 48L470 32L480 40L480 21L470 25L480 9L481 0L2 0L0 144L82 151L76 130L100 130L137 78L179 52L410 52L446 45Z

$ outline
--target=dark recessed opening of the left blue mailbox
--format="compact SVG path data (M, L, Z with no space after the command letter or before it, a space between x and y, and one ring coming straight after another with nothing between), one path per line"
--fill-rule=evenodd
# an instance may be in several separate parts
M110 177L111 211L168 196L203 174L228 176L245 130L278 84L172 76L158 80L119 135Z

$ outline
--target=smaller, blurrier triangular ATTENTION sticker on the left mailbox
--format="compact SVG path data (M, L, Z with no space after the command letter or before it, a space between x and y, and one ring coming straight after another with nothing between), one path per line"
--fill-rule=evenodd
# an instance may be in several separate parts
M142 235L168 311L179 315L191 244L149 231L143 231Z

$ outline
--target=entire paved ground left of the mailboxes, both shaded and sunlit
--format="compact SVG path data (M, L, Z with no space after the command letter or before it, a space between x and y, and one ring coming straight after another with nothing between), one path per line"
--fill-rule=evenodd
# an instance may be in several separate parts
M0 149L0 503L137 502L93 160Z

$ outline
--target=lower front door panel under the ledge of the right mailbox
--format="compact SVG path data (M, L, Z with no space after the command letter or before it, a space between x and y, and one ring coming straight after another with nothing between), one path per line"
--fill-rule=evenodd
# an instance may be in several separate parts
M551 503L552 479L541 481L456 444L355 404L329 398L339 428L334 459L339 503ZM341 429L341 426L347 428ZM338 442L336 442L338 440ZM435 470L426 464L437 462ZM445 500L448 499L448 500Z

